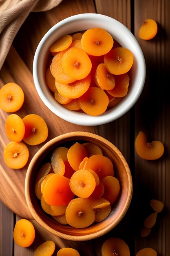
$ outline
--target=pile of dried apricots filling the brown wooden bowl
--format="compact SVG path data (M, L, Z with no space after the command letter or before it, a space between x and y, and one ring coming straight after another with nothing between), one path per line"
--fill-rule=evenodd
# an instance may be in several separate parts
M56 148L35 180L42 209L57 222L76 228L104 220L119 191L113 163L90 142Z

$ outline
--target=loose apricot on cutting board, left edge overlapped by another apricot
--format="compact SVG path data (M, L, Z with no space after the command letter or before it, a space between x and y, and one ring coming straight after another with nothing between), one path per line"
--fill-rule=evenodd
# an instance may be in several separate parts
M48 127L42 117L35 114L26 115L22 121L25 126L23 141L29 145L38 145L48 137Z

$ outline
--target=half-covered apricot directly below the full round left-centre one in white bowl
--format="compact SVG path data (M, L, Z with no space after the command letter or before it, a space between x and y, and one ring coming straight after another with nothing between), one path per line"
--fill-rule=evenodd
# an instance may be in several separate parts
M76 80L73 83L59 83L55 80L57 91L66 98L77 99L82 96L89 88L91 76L88 75L84 79Z

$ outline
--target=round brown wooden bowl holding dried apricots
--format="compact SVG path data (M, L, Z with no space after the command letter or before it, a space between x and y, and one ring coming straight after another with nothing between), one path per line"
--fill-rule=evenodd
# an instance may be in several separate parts
M109 157L113 162L115 177L118 178L120 183L119 197L113 205L108 217L101 222L94 223L82 229L56 222L50 215L42 210L40 200L38 200L34 192L35 177L47 157L51 155L55 148L59 146L70 147L76 141L79 143L92 142L98 145L102 149L103 155ZM132 177L126 159L108 140L89 132L69 132L51 139L51 141L42 146L35 154L26 173L25 195L33 218L35 218L44 229L67 240L90 240L106 234L124 217L132 198Z

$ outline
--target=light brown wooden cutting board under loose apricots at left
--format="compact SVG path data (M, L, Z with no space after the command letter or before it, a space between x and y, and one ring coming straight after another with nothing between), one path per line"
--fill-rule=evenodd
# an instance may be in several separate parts
M27 208L24 182L26 170L29 166L33 155L50 139L71 131L88 131L97 132L97 129L90 126L78 126L64 121L51 112L41 101L33 83L33 75L26 67L14 47L11 47L7 59L0 71L0 88L9 82L17 83L24 91L24 104L22 108L15 112L21 118L28 114L37 114L43 117L49 128L49 136L44 143L38 146L28 146L29 161L24 168L14 170L9 168L3 159L4 147L10 142L5 133L5 121L9 114L0 110L0 199L14 213L24 217L32 218L29 209Z

